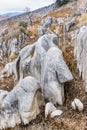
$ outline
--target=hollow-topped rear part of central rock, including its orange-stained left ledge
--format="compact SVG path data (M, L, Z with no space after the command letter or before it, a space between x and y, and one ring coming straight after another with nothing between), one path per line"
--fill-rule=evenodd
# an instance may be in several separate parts
M29 72L32 76L36 77L36 79L40 80L41 75L41 64L44 53L49 50L52 46L58 45L58 37L54 34L45 34L44 36L40 37L36 43L33 45L28 45L24 47L20 53L19 53L19 62L17 62L17 66L20 68L20 79L22 79L23 76L23 68L24 64L26 64L26 61L29 60ZM32 57L33 55L33 57ZM26 66L26 65L25 65ZM26 68L25 68L26 70Z

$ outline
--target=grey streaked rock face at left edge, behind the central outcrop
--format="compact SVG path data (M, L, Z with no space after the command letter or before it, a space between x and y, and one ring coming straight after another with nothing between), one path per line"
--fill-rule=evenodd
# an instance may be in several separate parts
M25 33L20 34L17 38L11 37L7 40L0 40L0 48L3 52L3 56L11 56L12 54L19 54L22 46L29 40L29 35L27 31Z

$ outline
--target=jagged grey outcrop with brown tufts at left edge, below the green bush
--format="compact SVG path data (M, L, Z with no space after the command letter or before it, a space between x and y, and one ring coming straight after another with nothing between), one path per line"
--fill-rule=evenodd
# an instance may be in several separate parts
M10 33L6 36L3 36L0 40L0 50L2 50L2 55L0 56L3 57L5 55L8 58L14 59L13 55L19 54L19 51L22 48L22 46L24 46L24 44L26 44L29 40L29 35L27 31L25 31L24 33L18 32L18 35L14 34L14 32L12 32L13 34Z

